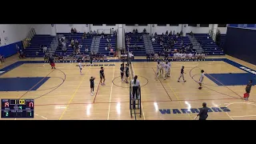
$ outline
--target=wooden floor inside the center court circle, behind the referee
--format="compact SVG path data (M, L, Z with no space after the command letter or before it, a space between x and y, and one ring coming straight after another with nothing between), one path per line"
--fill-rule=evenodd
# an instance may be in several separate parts
M124 75L124 78L125 78L125 75ZM138 80L141 83L141 87L146 86L149 83L149 80L147 78L139 76L139 75L138 75ZM112 82L113 82L114 86L118 86L118 87L122 87L122 88L130 87L130 83L121 82L121 76L114 78Z

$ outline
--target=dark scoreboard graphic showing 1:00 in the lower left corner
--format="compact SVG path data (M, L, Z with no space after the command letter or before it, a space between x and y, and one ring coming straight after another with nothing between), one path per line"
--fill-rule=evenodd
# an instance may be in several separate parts
M34 99L2 99L1 118L34 118Z

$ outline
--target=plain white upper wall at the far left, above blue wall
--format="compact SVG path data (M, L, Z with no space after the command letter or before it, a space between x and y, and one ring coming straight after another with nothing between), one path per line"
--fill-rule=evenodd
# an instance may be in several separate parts
M22 41L30 31L31 25L25 24L6 24L0 25L1 46L9 45L14 42ZM6 40L5 40L6 38Z

